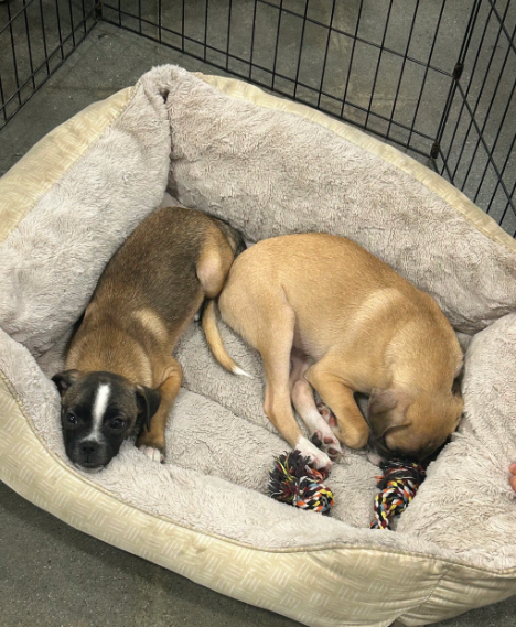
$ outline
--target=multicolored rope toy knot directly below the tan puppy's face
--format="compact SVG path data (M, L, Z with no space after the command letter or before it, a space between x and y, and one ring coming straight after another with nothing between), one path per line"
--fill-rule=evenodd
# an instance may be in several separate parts
M372 529L390 529L390 520L399 516L416 496L426 477L426 468L413 462L381 462L384 474L376 477L381 490L375 497L375 520Z

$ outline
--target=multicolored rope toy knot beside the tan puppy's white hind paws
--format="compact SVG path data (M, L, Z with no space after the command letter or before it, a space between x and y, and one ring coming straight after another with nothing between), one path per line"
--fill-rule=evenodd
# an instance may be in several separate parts
M327 515L333 506L333 493L323 483L326 477L326 471L312 468L310 458L299 451L283 453L276 457L269 473L269 494L281 502Z

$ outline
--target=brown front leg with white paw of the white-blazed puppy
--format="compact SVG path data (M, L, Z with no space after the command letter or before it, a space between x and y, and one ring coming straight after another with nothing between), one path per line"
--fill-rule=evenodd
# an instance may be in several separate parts
M161 402L158 411L151 419L150 431L147 431L143 425L137 441L138 448L154 462L163 462L164 460L166 422L183 377L181 366L173 357L171 357L171 364L166 370L169 376L158 388L161 394Z

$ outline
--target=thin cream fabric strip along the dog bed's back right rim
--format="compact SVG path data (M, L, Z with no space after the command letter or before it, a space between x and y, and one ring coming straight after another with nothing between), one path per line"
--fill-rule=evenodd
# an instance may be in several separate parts
M205 75L200 72L195 73L195 75L228 96L254 102L255 105L267 109L277 109L295 116L301 116L302 118L311 120L312 122L333 131L343 139L359 145L364 150L380 156L407 174L412 175L451 205L486 237L496 241L501 246L504 246L510 252L516 255L516 240L505 233L491 216L480 209L462 192L445 181L442 176L421 163L418 163L411 156L404 154L396 148L362 132L351 125L340 122L321 111L312 109L311 107L278 98L277 96L270 96L259 87L255 87L254 85L249 85L243 80L225 78L223 76Z

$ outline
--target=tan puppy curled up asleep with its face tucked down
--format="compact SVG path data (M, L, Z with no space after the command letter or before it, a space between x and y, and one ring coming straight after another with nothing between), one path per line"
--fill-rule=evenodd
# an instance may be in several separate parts
M428 294L357 244L323 234L260 241L235 261L218 304L261 354L267 415L318 467L340 456L338 441L359 448L370 435L384 452L424 458L455 430L463 401L452 391L462 367L453 329ZM236 372L213 302L203 327ZM311 386L336 425L319 414ZM355 392L369 396L367 422ZM291 401L323 452L301 435Z

